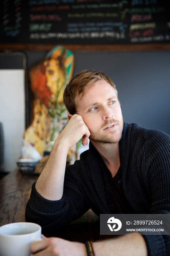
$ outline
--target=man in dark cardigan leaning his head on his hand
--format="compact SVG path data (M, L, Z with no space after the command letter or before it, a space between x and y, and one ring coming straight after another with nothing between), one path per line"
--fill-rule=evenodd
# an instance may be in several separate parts
M43 232L79 218L90 208L108 213L170 212L170 136L123 121L115 84L102 72L85 70L64 91L69 122L54 143L26 207L26 221ZM69 148L82 138L89 150L66 166ZM86 256L82 243L45 238L35 255ZM93 242L96 256L170 255L170 236L131 233ZM50 254L51 253L51 254Z

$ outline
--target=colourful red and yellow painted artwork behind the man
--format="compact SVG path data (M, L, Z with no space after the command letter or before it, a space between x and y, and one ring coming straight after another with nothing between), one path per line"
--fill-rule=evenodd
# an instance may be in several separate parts
M56 103L62 105L63 91L72 78L73 67L73 53L58 45L30 70L30 87L34 93L34 99L32 122L24 133L24 139L40 154L43 154L49 133L52 116L49 110L54 107L56 110L58 106Z

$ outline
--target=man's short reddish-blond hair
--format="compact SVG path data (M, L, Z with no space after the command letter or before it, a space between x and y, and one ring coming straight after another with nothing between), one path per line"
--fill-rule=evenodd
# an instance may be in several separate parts
M115 84L106 74L93 69L82 70L80 73L74 76L72 80L70 80L64 90L63 101L70 114L76 114L76 97L79 95L83 97L88 87L97 80L105 80L108 82L115 89L117 94Z

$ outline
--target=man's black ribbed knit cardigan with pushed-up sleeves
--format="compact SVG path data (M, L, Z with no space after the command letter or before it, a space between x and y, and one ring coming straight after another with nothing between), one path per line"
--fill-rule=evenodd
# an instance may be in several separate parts
M136 214L168 214L170 227L170 136L124 123L119 148L123 190L131 207ZM98 152L90 143L80 160L67 167L61 200L43 198L33 184L26 221L38 223L42 233L48 233L81 217L90 208L98 216L111 213L97 158ZM169 234L142 235L148 256L170 255Z

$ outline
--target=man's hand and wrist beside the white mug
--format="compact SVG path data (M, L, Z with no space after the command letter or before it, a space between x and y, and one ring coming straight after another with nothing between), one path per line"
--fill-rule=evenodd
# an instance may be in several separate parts
M85 244L70 242L62 238L47 238L31 244L31 252L34 256L86 256ZM41 251L42 250L42 251Z

